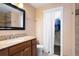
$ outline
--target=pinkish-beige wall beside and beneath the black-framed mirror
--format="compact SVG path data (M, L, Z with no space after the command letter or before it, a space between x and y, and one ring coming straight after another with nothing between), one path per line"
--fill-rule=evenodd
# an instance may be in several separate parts
M0 37L2 35L21 34L35 35L35 8L29 4L24 4L26 11L26 29L25 30L0 30Z

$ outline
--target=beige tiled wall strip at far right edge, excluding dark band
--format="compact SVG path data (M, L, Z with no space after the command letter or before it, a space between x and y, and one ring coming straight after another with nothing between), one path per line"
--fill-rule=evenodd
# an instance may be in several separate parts
M79 4L75 8L79 9ZM75 18L75 55L79 56L79 14Z

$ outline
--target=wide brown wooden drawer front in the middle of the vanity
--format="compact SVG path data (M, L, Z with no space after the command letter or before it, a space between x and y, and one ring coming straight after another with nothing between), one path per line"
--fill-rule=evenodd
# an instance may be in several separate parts
M24 43L20 43L20 44L10 47L9 55L14 55L17 52L22 51L23 49L25 49L25 46L26 46L26 43L24 42Z

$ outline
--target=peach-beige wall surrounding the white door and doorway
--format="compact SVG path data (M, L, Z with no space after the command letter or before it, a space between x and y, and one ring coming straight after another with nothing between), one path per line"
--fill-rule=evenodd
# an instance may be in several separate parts
M50 3L48 5L39 7L36 9L36 35L40 44L43 44L42 40L42 21L43 11L50 8L63 7L63 54L67 56L75 55L75 8L74 4L66 3ZM73 12L73 14L72 14Z

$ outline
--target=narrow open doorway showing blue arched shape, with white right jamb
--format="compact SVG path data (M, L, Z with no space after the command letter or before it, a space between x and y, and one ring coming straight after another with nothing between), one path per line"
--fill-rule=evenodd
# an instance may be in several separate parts
M63 55L63 8L54 10L54 54Z

